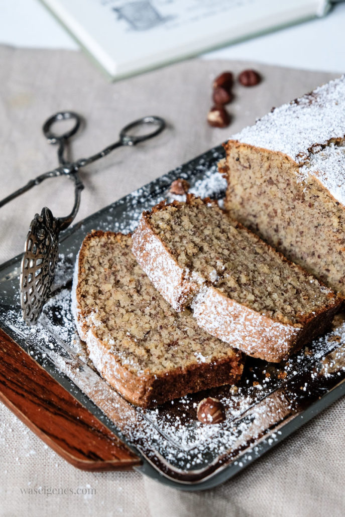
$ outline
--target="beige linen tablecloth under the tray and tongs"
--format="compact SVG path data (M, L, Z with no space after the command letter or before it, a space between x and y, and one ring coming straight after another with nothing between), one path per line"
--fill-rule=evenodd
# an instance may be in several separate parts
M1 196L50 168L56 149L43 138L44 119L74 110L86 126L71 149L88 156L117 138L131 120L167 119L158 138L122 148L82 173L77 220L226 140L270 110L336 76L258 64L191 60L118 83L108 83L79 52L0 47ZM235 86L233 123L210 128L216 74L255 67L264 80ZM49 206L65 216L73 203L66 178L51 179L0 209L0 262L20 253L35 212ZM341 399L241 474L213 490L179 492L137 472L87 473L73 468L0 405L0 515L269 516L344 515L344 415ZM93 495L28 495L29 488L92 488ZM42 490L43 491L43 490Z

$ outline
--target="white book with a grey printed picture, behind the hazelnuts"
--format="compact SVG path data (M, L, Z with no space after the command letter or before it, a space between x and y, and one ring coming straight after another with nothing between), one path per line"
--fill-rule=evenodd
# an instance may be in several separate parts
M113 79L329 9L327 0L41 0Z

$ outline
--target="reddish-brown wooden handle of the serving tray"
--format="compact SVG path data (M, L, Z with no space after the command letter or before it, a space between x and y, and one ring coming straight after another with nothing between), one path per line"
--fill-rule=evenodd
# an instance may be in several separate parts
M140 459L0 329L0 400L49 447L84 470L127 470Z

